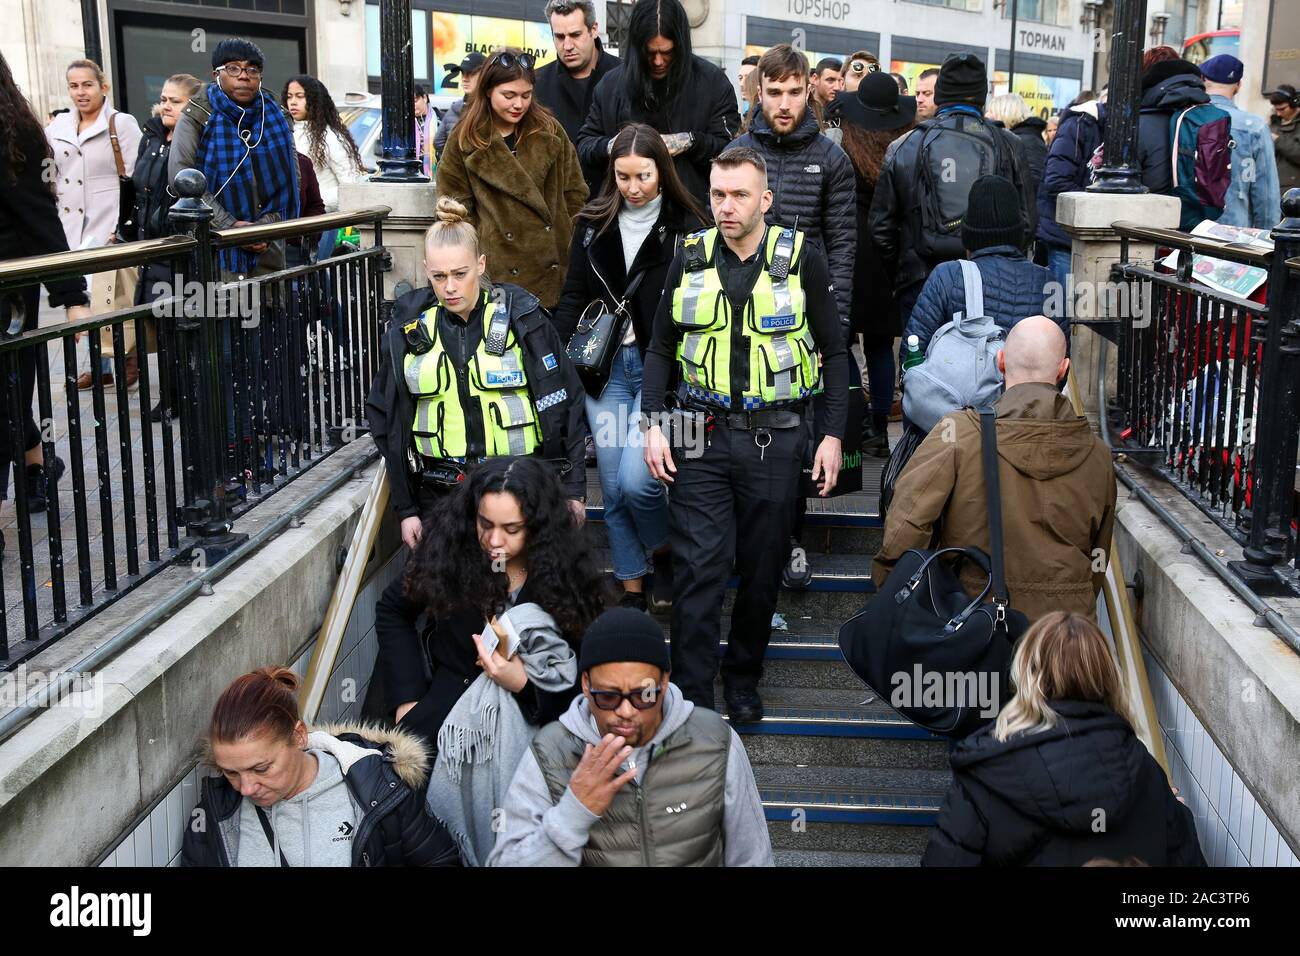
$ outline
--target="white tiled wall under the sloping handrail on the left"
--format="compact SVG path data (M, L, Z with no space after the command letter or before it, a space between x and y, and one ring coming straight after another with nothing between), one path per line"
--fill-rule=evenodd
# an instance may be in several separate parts
M398 549L389 563L361 588L343 635L339 659L334 665L334 672L321 701L317 723L360 719L378 653L378 643L374 639L374 602L402 574L404 564L406 549ZM315 649L313 640L290 667L306 675ZM181 861L181 836L190 813L199 803L199 780L207 773L209 773L207 767L191 767L185 779L159 801L139 826L124 834L122 840L100 865L177 866Z

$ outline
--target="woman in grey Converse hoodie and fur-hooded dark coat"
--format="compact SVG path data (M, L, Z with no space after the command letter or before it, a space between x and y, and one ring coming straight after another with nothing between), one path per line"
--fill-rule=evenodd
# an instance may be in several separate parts
M298 675L263 667L222 692L208 727L204 826L187 826L183 866L459 866L425 809L429 757L411 734L309 728Z

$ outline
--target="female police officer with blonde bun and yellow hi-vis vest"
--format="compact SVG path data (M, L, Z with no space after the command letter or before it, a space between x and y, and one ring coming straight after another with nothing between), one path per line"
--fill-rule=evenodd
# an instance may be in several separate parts
M551 460L581 522L584 395L564 343L536 295L486 280L465 208L443 198L437 215L424 250L432 287L394 304L365 406L402 540L413 549L441 493L502 455Z

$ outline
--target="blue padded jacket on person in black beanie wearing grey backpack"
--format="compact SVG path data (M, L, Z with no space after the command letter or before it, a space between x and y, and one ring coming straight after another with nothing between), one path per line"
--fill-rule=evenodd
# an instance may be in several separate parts
M1020 319L1031 315L1048 313L1048 284L1050 273L1041 265L1035 265L1014 246L989 246L971 255L979 267L984 282L984 312L1004 329L1010 329ZM1053 297L1060 300L1060 295ZM1053 306L1053 312L1060 311ZM907 336L920 339L920 350L926 351L931 337L953 320L954 312L966 311L966 285L962 282L959 263L940 263L930 273L911 319L904 330ZM1069 321L1050 316L1061 324L1061 330L1069 336ZM1069 341L1069 339L1067 339ZM906 347L906 345L904 345Z

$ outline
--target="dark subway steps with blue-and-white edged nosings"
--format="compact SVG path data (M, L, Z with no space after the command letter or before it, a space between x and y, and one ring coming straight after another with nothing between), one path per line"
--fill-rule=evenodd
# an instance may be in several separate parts
M879 459L863 463L867 490L810 499L803 546L812 584L781 591L759 692L766 715L737 727L754 766L777 866L913 866L948 787L948 743L876 700L840 654L840 624L872 593L880 548ZM594 470L588 535L610 568L604 509ZM734 602L736 579L723 606ZM668 617L656 618L668 630ZM718 710L725 713L722 684Z

